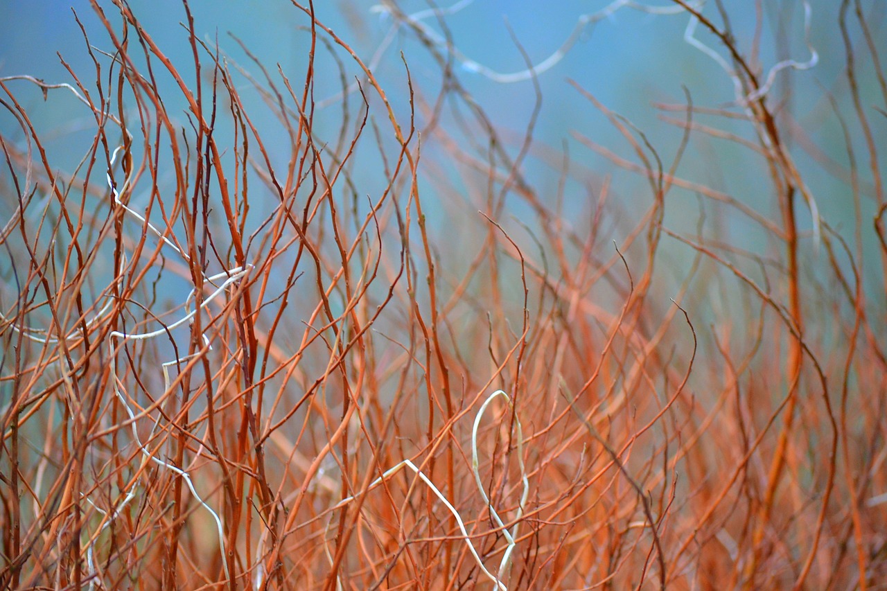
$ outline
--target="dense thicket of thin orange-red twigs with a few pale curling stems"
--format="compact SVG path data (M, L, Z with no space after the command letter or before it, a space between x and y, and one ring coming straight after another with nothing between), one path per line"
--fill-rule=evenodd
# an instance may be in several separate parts
M168 55L124 0L93 0L93 70L0 77L0 587L883 587L883 32L788 3L844 39L821 146L781 85L817 55L764 65L703 4L665 10L734 102L656 105L671 146L578 83L623 147L553 157L538 109L498 130L459 76L513 80L451 45L459 6L383 8L434 90L295 3L298 78L185 2ZM35 97L86 117L75 167ZM684 176L697 141L762 200ZM586 148L647 193L577 173Z

